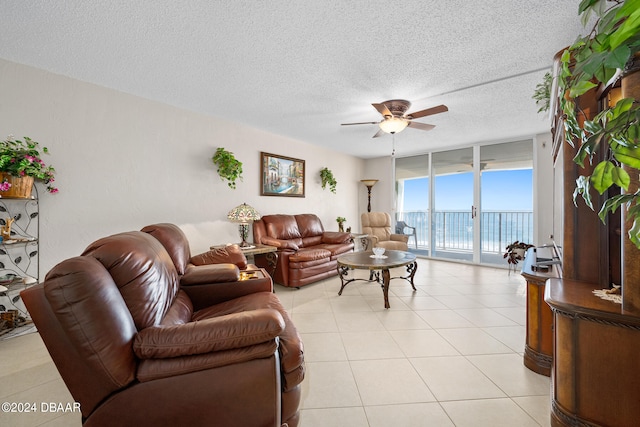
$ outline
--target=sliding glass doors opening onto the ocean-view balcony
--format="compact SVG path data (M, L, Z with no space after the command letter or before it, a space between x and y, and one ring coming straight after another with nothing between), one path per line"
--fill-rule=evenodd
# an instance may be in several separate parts
M531 140L396 159L397 220L417 234L410 250L503 264L505 246L532 241L532 167Z

